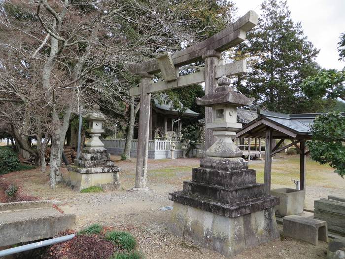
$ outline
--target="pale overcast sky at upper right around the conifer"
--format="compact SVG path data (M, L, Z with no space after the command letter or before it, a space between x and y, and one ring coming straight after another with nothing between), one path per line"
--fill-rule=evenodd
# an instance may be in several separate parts
M249 10L260 15L262 0L233 0L238 16ZM316 61L322 68L342 70L344 61L338 61L339 37L345 32L345 0L287 0L294 22L301 22L304 34L317 49Z

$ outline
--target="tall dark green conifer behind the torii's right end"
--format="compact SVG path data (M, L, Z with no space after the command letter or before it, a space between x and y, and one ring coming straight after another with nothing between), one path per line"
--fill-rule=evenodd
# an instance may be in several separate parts
M304 36L301 23L291 20L286 0L266 0L261 9L258 25L236 49L236 59L248 54L251 59L248 73L236 82L237 88L270 111L317 110L322 102L310 102L299 84L317 72L314 58L319 51Z

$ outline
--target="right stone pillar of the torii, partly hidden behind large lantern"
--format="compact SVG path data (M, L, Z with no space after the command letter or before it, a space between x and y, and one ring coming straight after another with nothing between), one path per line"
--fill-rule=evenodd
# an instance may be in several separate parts
M203 54L205 60L205 95L214 93L217 87L216 65L219 62L220 53L215 50L207 50ZM205 107L205 125L212 122L213 111L211 107ZM212 146L216 141L213 132L210 129L205 129L205 150Z

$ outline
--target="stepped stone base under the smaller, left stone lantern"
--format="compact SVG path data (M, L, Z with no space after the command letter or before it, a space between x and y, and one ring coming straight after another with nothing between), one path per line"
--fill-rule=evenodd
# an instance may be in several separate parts
M81 191L91 186L111 190L120 187L118 172L121 169L110 160L105 148L84 148L81 159L75 159L74 165L69 165L68 169L68 184L74 190Z

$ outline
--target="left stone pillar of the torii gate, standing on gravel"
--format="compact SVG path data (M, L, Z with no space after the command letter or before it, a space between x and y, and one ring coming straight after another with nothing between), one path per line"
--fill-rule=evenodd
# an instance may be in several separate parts
M137 148L137 168L136 182L133 190L148 190L146 186L147 174L147 155L149 141L149 121L151 93L148 93L148 87L151 81L151 75L141 75L140 88L140 109L139 109L139 129L138 129L138 148Z

